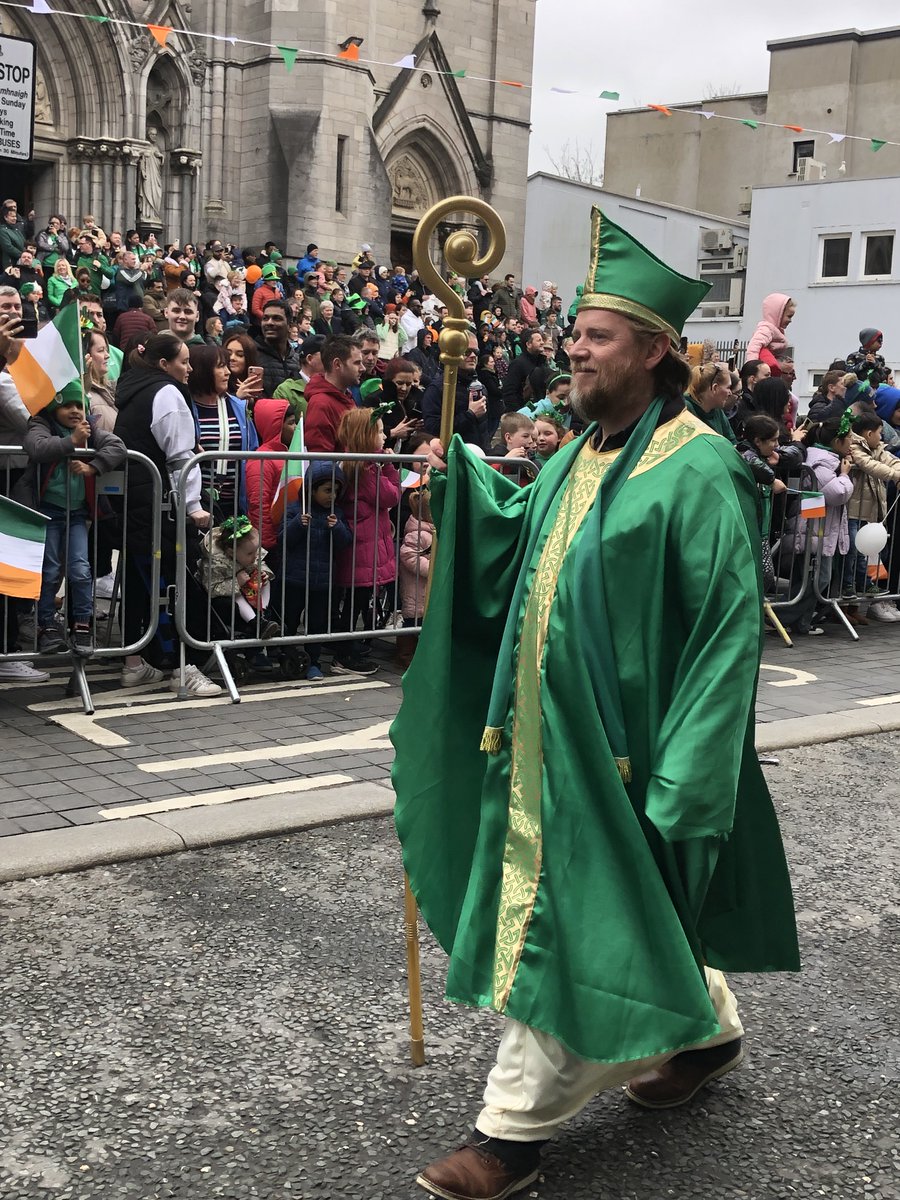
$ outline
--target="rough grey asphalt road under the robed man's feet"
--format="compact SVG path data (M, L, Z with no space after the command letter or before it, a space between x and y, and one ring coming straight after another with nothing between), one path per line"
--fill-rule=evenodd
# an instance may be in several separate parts
M821 642L821 640L820 640ZM540 1200L894 1200L900 1177L900 736L768 774L800 976L732 979L744 1069L689 1110L599 1098ZM386 820L5 884L0 1193L406 1200L464 1136L497 1021L440 1000L407 1062Z

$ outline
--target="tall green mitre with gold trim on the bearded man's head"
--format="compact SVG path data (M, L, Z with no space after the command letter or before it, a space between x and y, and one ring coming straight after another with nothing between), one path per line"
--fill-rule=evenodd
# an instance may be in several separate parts
M608 308L667 334L677 349L684 323L709 290L679 275L600 209L590 211L590 266L578 312Z

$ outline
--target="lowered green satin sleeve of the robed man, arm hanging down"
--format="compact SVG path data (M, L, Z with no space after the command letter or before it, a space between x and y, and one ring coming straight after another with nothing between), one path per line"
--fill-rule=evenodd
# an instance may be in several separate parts
M683 650L656 739L646 814L665 841L731 833L762 646L756 499L725 442L728 470L685 470L668 532ZM671 583L670 583L671 586ZM665 632L662 635L665 637ZM722 686L722 680L728 686Z

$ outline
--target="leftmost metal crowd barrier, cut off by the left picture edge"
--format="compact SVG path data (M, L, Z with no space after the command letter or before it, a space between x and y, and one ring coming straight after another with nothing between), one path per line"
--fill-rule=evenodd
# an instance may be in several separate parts
M78 451L78 458L88 462L94 457L92 450ZM40 486L40 467L29 466L28 458L22 451L22 446L0 446L0 480L2 494L10 497L11 491L18 480L28 472L36 472ZM65 464L65 463L64 463ZM139 469L148 472L151 485L151 534L150 546L146 553L142 554L145 563L142 566L142 580L150 598L160 594L160 550L161 530L164 518L172 520L172 515L163 516L162 504L162 480L160 472L150 458L133 450L128 450L126 460L119 470L109 472L106 475L97 475L94 479L95 494L97 497L97 518L90 520L88 553L91 564L91 607L94 626L94 650L90 655L76 654L71 648L65 647L60 652L42 655L38 649L37 628L37 602L30 600L14 600L10 596L0 595L0 618L2 619L2 640L0 641L0 662L25 662L40 659L42 662L65 661L71 665L72 676L67 684L68 695L78 695L84 706L85 713L94 712L90 685L88 682L86 666L89 664L104 664L108 659L121 659L125 655L140 654L150 643L157 631L160 623L161 605L164 598L157 602L150 602L145 628L139 637L131 643L125 642L122 613L128 604L130 584L126 571L128 562L128 496L127 481L131 470ZM68 546L72 528L71 514L71 482L72 476L66 470L66 515L65 515L65 545ZM11 497L14 498L14 497ZM100 510L103 510L102 512ZM116 511L118 510L118 511ZM134 553L132 551L132 553ZM113 568L113 558L118 558ZM62 635L67 624L66 611L70 607L70 584L67 580L66 562L60 570L58 582L58 607L55 623ZM97 566L108 566L103 570L103 576L114 575L114 582L109 594L97 594ZM133 578L133 575L132 575ZM60 592L61 586L61 592ZM101 630L101 626L104 629ZM17 648L8 643L14 637ZM118 674L118 671L116 671Z

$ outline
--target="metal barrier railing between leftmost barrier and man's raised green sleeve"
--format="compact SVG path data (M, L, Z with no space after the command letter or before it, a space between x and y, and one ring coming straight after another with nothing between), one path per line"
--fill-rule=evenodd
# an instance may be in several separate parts
M259 464L260 475L266 462L287 464L284 494L290 502L274 538L265 512L269 494L259 488L256 503L246 505L250 511L241 505L241 468L248 461ZM486 461L524 480L536 475L527 458ZM356 464L368 474L341 499L336 492L344 490L344 470ZM275 580L268 598L254 595L258 584L252 581L246 595L240 593L242 564L234 544L217 550L211 532L192 528L187 480L198 469L203 508L215 527L246 515L256 529L269 532L265 562ZM298 678L318 666L324 653L332 656L332 673L368 673L377 641L395 638L403 666L425 608L431 529L418 486L425 469L426 460L415 455L194 455L181 469L178 490L178 539L185 552L178 558L175 628L182 667L190 654L204 655L210 668L211 658L238 703L239 684L254 673ZM320 484L330 487L319 493L324 503L316 503L312 493Z

